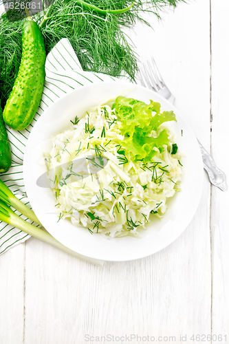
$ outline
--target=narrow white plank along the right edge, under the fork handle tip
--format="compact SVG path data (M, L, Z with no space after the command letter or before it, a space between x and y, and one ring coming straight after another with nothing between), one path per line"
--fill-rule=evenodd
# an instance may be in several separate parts
M229 3L212 1L212 156L226 173L228 161ZM229 193L212 187L212 333L229 338ZM225 337L221 343L228 343Z

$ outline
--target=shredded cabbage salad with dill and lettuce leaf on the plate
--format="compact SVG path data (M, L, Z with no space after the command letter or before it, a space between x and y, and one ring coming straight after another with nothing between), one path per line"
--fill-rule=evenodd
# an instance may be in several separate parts
M59 219L91 234L139 235L179 191L181 155L160 104L116 98L98 105L51 138L45 154Z

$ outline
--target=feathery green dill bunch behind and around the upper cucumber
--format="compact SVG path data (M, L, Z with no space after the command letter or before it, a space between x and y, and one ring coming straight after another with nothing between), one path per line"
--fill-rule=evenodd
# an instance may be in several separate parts
M124 13L101 14L83 6L77 0L56 0L33 19L41 24L47 54L62 39L69 39L78 59L86 71L101 72L111 76L125 73L134 80L137 58L133 46L122 32L122 25L131 27L142 20L142 11L160 18L165 6L176 6L184 0L136 0L131 10ZM102 10L122 10L131 6L129 0L88 0L87 3ZM2 105L10 96L21 61L21 31L23 21L8 21L6 14L0 21L0 99ZM146 21L146 24L149 25Z

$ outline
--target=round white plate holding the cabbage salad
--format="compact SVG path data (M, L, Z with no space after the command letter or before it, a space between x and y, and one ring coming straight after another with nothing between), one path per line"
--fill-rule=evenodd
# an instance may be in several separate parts
M56 200L50 189L36 185L39 176L45 173L45 166L39 164L43 145L51 136L67 129L70 120L83 114L87 109L122 92L131 98L149 103L159 102L162 110L173 110L177 122L171 122L177 135L177 145L185 153L182 159L182 191L170 201L163 219L153 219L146 230L141 231L141 239L122 237L105 239L102 235L91 235L86 228L75 227L66 219L59 222L56 215ZM183 135L182 135L183 133ZM46 230L62 244L87 257L105 261L129 261L152 255L171 244L188 226L201 197L203 184L203 163L199 144L179 111L167 100L141 86L124 82L102 82L76 89L58 100L36 122L25 149L24 158L25 189L30 204Z

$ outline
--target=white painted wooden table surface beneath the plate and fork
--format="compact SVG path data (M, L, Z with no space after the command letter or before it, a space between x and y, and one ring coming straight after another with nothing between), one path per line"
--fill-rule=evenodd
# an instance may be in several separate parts
M138 23L126 31L140 60L155 57L175 106L229 181L228 14L228 0L196 0L162 22L147 17L154 30ZM12 248L0 257L0 343L228 343L228 204L228 191L204 173L199 208L181 237L104 268L34 238Z

